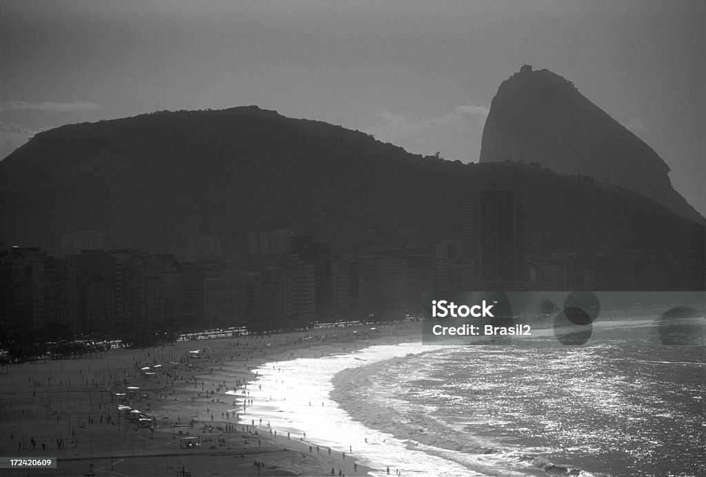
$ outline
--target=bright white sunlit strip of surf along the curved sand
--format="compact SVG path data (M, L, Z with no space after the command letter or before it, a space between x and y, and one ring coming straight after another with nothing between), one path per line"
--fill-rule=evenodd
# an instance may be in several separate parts
M357 461L376 469L373 472L376 476L387 476L388 466L392 475L397 469L403 476L438 476L440 472L445 476L459 477L484 475L448 459L409 449L408 441L399 440L392 434L366 428L352 420L329 397L333 389L331 379L340 370L433 349L419 343L407 343L373 346L326 358L267 363L258 368L258 379L248 386L248 398L253 399L253 405L241 414L241 423L254 421L259 432L269 432L269 422L273 432L277 430L278 438L287 439L287 432L290 432L292 439L304 440L314 449L316 445L320 446L320 452L328 452L330 447L335 457L345 452L346 458L350 459L352 449Z

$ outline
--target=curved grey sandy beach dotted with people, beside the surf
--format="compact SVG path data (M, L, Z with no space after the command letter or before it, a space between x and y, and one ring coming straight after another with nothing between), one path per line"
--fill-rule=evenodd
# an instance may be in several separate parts
M180 341L11 365L0 375L1 455L56 457L58 464L4 473L364 476L370 469L355 452L329 452L316 435L287 436L287 430L277 432L251 415L247 422L239 418L252 399L256 368L264 363L421 337L417 323L374 328ZM131 411L150 416L152 423L140 426L129 418ZM198 447L188 447L197 441Z

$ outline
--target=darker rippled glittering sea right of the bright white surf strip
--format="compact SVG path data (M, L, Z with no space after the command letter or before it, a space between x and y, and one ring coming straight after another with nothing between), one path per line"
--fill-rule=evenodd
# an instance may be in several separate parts
M481 473L693 476L706 472L704 358L669 346L438 348L344 370L331 396L369 428Z

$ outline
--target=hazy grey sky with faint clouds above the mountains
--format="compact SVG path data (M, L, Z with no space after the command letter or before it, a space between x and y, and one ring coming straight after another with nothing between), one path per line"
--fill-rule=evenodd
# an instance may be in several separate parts
M258 105L477 162L525 63L650 145L706 216L701 0L0 0L0 158L62 124Z

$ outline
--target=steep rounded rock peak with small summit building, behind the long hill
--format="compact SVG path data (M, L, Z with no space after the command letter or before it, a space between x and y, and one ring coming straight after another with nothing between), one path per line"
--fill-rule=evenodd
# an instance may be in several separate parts
M541 163L588 175L653 199L706 223L674 190L669 166L638 136L556 73L525 65L501 83L483 130L481 163Z

